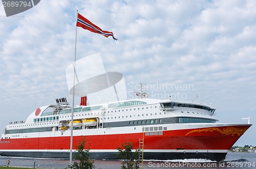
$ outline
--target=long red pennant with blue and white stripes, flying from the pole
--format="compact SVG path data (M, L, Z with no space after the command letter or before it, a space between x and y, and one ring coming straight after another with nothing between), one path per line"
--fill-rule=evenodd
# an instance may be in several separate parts
M86 30L89 30L89 31L94 32L94 33L101 34L105 37L112 36L113 39L117 40L117 38L114 37L113 32L103 31L102 29L100 29L98 26L94 25L90 20L83 17L79 13L77 15L76 26L81 27L81 28L86 29Z

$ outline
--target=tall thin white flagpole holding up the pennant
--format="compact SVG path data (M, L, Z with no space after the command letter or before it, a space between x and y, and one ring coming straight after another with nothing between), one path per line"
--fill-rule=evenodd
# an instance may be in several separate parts
M78 17L78 10L77 17ZM76 40L77 40L77 26L76 26ZM76 73L76 42L75 42L75 56L74 56L74 77L73 77L73 99L72 99L72 114L71 114L71 131L70 131L70 156L69 156L69 164L72 164L72 148L73 148L73 126L74 126L74 104L75 104L75 73Z

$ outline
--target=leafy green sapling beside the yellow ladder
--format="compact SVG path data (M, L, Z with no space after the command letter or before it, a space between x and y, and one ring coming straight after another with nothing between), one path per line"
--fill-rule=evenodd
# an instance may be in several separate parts
M139 159L141 149L137 149L135 152L133 152L133 146L133 142L129 142L129 139L127 139L126 142L121 144L121 147L117 147L118 153L116 156L121 156L123 159L121 166L122 169L139 168L139 163L141 163L141 160Z

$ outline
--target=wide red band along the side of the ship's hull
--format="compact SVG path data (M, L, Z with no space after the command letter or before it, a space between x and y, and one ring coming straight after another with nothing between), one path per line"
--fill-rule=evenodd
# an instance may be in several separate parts
M211 127L200 129L169 130L163 135L144 136L145 149L152 150L229 150L250 126ZM139 147L139 138L143 133L108 134L84 136L91 143L91 150L116 150L127 139ZM4 139L2 139L4 140ZM9 143L0 143L0 150L69 150L70 137L39 137L8 139ZM73 149L76 149L81 136L73 137ZM3 141L1 141L3 142Z

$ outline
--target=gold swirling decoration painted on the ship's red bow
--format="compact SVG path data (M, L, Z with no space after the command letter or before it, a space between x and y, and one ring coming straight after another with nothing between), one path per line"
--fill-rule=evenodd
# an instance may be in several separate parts
M241 136L244 134L244 132L247 130L248 128L244 128L244 129L239 129L239 128L234 128L234 127L227 127L227 128L223 128L222 130L220 128L217 127L212 127L212 128L206 128L206 129L195 129L192 130L190 132L188 132L186 135L190 134L190 133L195 133L195 132L213 132L213 131L218 131L221 134L225 134L225 135L235 135L237 134L238 136ZM185 135L185 136L186 136Z

